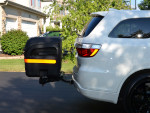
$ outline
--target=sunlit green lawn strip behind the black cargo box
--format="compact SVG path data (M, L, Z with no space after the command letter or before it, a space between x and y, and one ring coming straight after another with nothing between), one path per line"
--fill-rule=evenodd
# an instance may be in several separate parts
M67 60L62 61L62 71L65 73L72 73L74 64ZM3 59L0 60L0 71L1 72L25 72L24 60L23 59Z

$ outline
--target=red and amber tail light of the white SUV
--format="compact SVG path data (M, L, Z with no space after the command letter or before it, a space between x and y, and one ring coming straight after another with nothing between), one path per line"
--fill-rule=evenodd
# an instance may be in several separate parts
M100 50L101 45L95 44L76 44L78 55L81 57L93 57Z

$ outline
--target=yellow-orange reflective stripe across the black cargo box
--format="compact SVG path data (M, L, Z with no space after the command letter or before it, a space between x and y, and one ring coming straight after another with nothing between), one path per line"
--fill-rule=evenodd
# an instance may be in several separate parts
M42 63L42 64L56 64L56 60L51 59L24 59L25 63Z

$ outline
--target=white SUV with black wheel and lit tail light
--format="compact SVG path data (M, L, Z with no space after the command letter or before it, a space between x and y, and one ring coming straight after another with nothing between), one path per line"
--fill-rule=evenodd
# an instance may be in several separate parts
M91 99L121 100L128 113L150 113L150 11L92 16L75 43L75 86Z

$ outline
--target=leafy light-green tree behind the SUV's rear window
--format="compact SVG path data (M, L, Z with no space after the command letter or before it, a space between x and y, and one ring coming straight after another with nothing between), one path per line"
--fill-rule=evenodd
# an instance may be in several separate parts
M70 50L74 45L77 34L80 34L90 20L92 12L107 11L109 8L129 8L125 6L122 0L64 0L61 7L57 5L56 1L53 6L56 9L54 13L58 13L58 10L68 10L69 12L68 15L61 18L63 24L62 37L64 38L63 48L67 50Z

